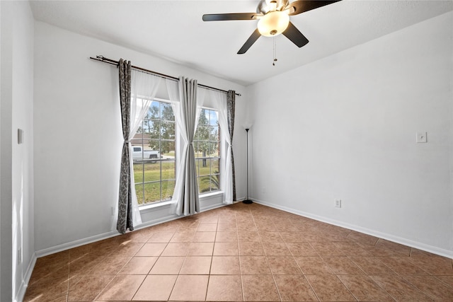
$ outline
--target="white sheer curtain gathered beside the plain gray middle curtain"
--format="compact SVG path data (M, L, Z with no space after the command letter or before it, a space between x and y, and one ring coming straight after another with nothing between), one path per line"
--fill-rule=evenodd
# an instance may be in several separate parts
M176 202L178 206L176 207L176 214L178 215L190 215L195 214L191 213L188 208L182 209L181 205L184 198L184 187L185 187L185 166L186 166L186 156L184 156L188 152L189 146L189 138L188 138L188 131L186 128L185 123L185 112L182 112L180 106L180 87L179 81L173 81L170 79L166 80L166 86L168 91L168 96L170 98L171 106L173 108L173 113L175 115L176 125L178 127L178 134L180 137L180 141L182 143L182 148L178 148L181 152L179 153L180 156L177 157L178 164L176 165L176 184L175 190L173 192L172 201ZM197 88L197 113L195 117L195 129L198 124L198 120L200 118L200 112L205 100L205 89ZM197 181L192 180L192 181Z

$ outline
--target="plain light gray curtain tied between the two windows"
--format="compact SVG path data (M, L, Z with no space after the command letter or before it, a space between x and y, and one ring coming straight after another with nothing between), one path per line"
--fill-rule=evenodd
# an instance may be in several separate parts
M187 147L181 154L181 172L183 177L182 187L178 194L176 214L192 215L200 212L200 199L198 198L197 168L195 165L195 150L193 149L193 138L197 127L197 80L179 78L180 117L182 135L184 132ZM185 128L185 131L184 131Z

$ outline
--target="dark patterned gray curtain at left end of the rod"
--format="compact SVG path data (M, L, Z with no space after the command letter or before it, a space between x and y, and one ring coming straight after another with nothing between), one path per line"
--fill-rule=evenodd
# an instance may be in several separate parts
M131 64L130 61L120 59L120 105L122 137L125 140L122 145L121 168L120 168L120 195L118 197L118 220L116 229L124 234L127 228L132 231L132 187L130 180L130 153L129 153L129 132L130 132L130 93L131 93Z

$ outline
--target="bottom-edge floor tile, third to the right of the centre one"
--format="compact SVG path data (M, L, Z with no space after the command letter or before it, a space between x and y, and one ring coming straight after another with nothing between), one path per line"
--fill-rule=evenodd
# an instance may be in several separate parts
M321 301L356 301L343 283L335 275L309 275L309 280L316 296Z

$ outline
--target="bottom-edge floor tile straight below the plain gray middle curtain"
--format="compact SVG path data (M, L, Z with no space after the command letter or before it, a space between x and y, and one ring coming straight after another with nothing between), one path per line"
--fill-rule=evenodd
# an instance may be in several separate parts
M179 275L170 295L171 301L205 301L207 282L206 275Z

